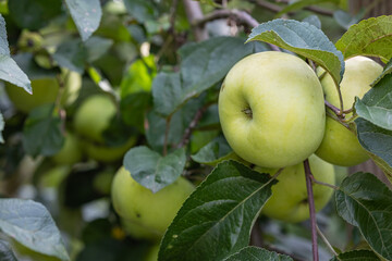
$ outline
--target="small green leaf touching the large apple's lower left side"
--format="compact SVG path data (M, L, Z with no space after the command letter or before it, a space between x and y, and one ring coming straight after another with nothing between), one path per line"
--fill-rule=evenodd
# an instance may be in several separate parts
M218 137L203 147L196 154L191 158L203 164L216 164L230 157L233 150L223 137Z

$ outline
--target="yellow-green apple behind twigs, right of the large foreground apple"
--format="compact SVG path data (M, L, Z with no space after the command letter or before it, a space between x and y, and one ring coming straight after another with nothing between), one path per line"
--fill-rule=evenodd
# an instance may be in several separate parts
M353 107L356 96L364 97L370 89L370 84L381 72L381 65L365 57L355 57L345 61L345 72L340 84L344 110ZM331 76L328 74L323 76L321 85L326 100L340 108L336 87ZM324 137L316 154L332 164L342 166L356 165L369 159L356 134L330 116L327 116Z

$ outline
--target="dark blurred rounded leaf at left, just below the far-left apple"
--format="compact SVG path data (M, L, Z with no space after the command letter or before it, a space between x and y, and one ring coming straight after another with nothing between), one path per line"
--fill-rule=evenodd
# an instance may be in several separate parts
M61 120L53 110L54 104L46 104L28 114L23 127L23 147L28 154L53 156L62 148Z

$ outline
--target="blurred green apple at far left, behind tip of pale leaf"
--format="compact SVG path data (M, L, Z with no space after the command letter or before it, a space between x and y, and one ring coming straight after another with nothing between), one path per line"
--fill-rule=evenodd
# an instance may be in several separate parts
M54 77L32 79L33 95L16 85L5 83L5 91L15 108L28 113L34 108L52 103L59 94L59 83Z

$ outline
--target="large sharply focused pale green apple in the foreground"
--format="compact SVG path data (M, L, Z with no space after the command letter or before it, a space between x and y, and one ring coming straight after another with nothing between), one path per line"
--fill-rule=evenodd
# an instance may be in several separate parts
M319 147L326 127L320 82L299 58L260 52L237 62L219 95L223 134L242 159L294 165Z

